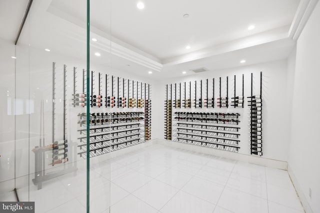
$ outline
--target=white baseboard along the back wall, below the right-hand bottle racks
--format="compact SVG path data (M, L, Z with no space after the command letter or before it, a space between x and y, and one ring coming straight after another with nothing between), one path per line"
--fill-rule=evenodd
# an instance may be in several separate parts
M193 152L214 155L214 156L218 156L218 157L228 158L231 160L237 160L237 161L247 162L247 163L251 163L251 164L257 164L257 165L281 169L281 170L287 169L287 162L285 162L285 161L278 161L278 160L267 159L267 158L262 158L262 157L255 157L255 156L251 156L251 155L243 155L243 154L239 154L239 153L210 149L210 148L206 148L206 147L200 147L200 146L191 145L191 144L172 142L172 141L163 140L163 139L156 139L156 143L162 144L165 146L174 147L174 148L182 148L182 149L190 150Z

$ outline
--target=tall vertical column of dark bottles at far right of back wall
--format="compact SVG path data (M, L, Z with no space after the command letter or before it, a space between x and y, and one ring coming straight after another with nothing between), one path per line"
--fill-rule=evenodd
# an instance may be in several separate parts
M250 154L262 156L262 72L260 72L260 95L253 95L253 74L251 73L251 95L247 98L250 107Z

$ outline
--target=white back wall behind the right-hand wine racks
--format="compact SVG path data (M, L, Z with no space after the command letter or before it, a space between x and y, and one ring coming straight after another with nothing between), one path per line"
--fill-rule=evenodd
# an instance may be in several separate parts
M215 98L218 97L218 78L221 77L222 82L225 85L225 77L229 78L229 96L233 96L233 76L236 75L236 93L237 95L241 95L241 87L242 87L242 74L244 74L244 96L247 97L250 95L250 73L253 73L253 91L254 93L259 94L259 72L263 73L263 82L262 82L262 139L263 139L263 156L262 158L287 161L288 159L288 137L289 137L289 111L283 110L288 108L288 103L286 98L290 91L287 90L287 61L286 60L278 60L268 63L255 64L250 66L241 66L232 69L224 69L217 71L208 71L203 73L198 73L189 76L182 76L180 78L168 79L161 81L160 86L160 99L162 102L159 106L159 109L154 109L156 113L156 121L158 122L158 126L156 129L161 131L157 132L158 138L163 138L164 135L164 85L170 83L179 83L184 81L191 81L191 99L194 99L194 91L193 85L194 80L202 79L202 82L205 81L206 78L209 80L213 77L215 78ZM211 84L210 84L211 85ZM225 86L221 87L221 94L225 94ZM203 86L204 91L204 86ZM199 95L199 94L197 94ZM203 95L203 92L202 92ZM211 96L211 95L209 95ZM174 97L173 97L174 98ZM183 97L182 97L183 99ZM215 100L216 102L216 100ZM215 107L214 109L187 109L189 111L208 111L208 112L238 112L241 114L239 127L240 130L240 143L239 143L239 153L250 155L249 153L249 130L248 130L248 106L247 99L245 100L244 108L232 108L228 109L218 109ZM179 111L185 111L181 109ZM174 128L172 128L174 129ZM172 133L173 135L174 133Z

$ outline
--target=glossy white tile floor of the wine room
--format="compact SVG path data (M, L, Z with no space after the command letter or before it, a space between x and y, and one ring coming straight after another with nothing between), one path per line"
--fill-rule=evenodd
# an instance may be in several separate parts
M163 145L91 165L90 176L92 213L304 212L286 171ZM30 185L29 197L37 213L84 213L85 172Z

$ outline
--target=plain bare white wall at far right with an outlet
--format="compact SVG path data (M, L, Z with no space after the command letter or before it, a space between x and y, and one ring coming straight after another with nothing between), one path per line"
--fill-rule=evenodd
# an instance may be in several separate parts
M306 204L320 212L320 3L297 40L288 167ZM312 197L309 198L309 188ZM302 198L303 199L303 198ZM303 201L302 201L303 202Z

